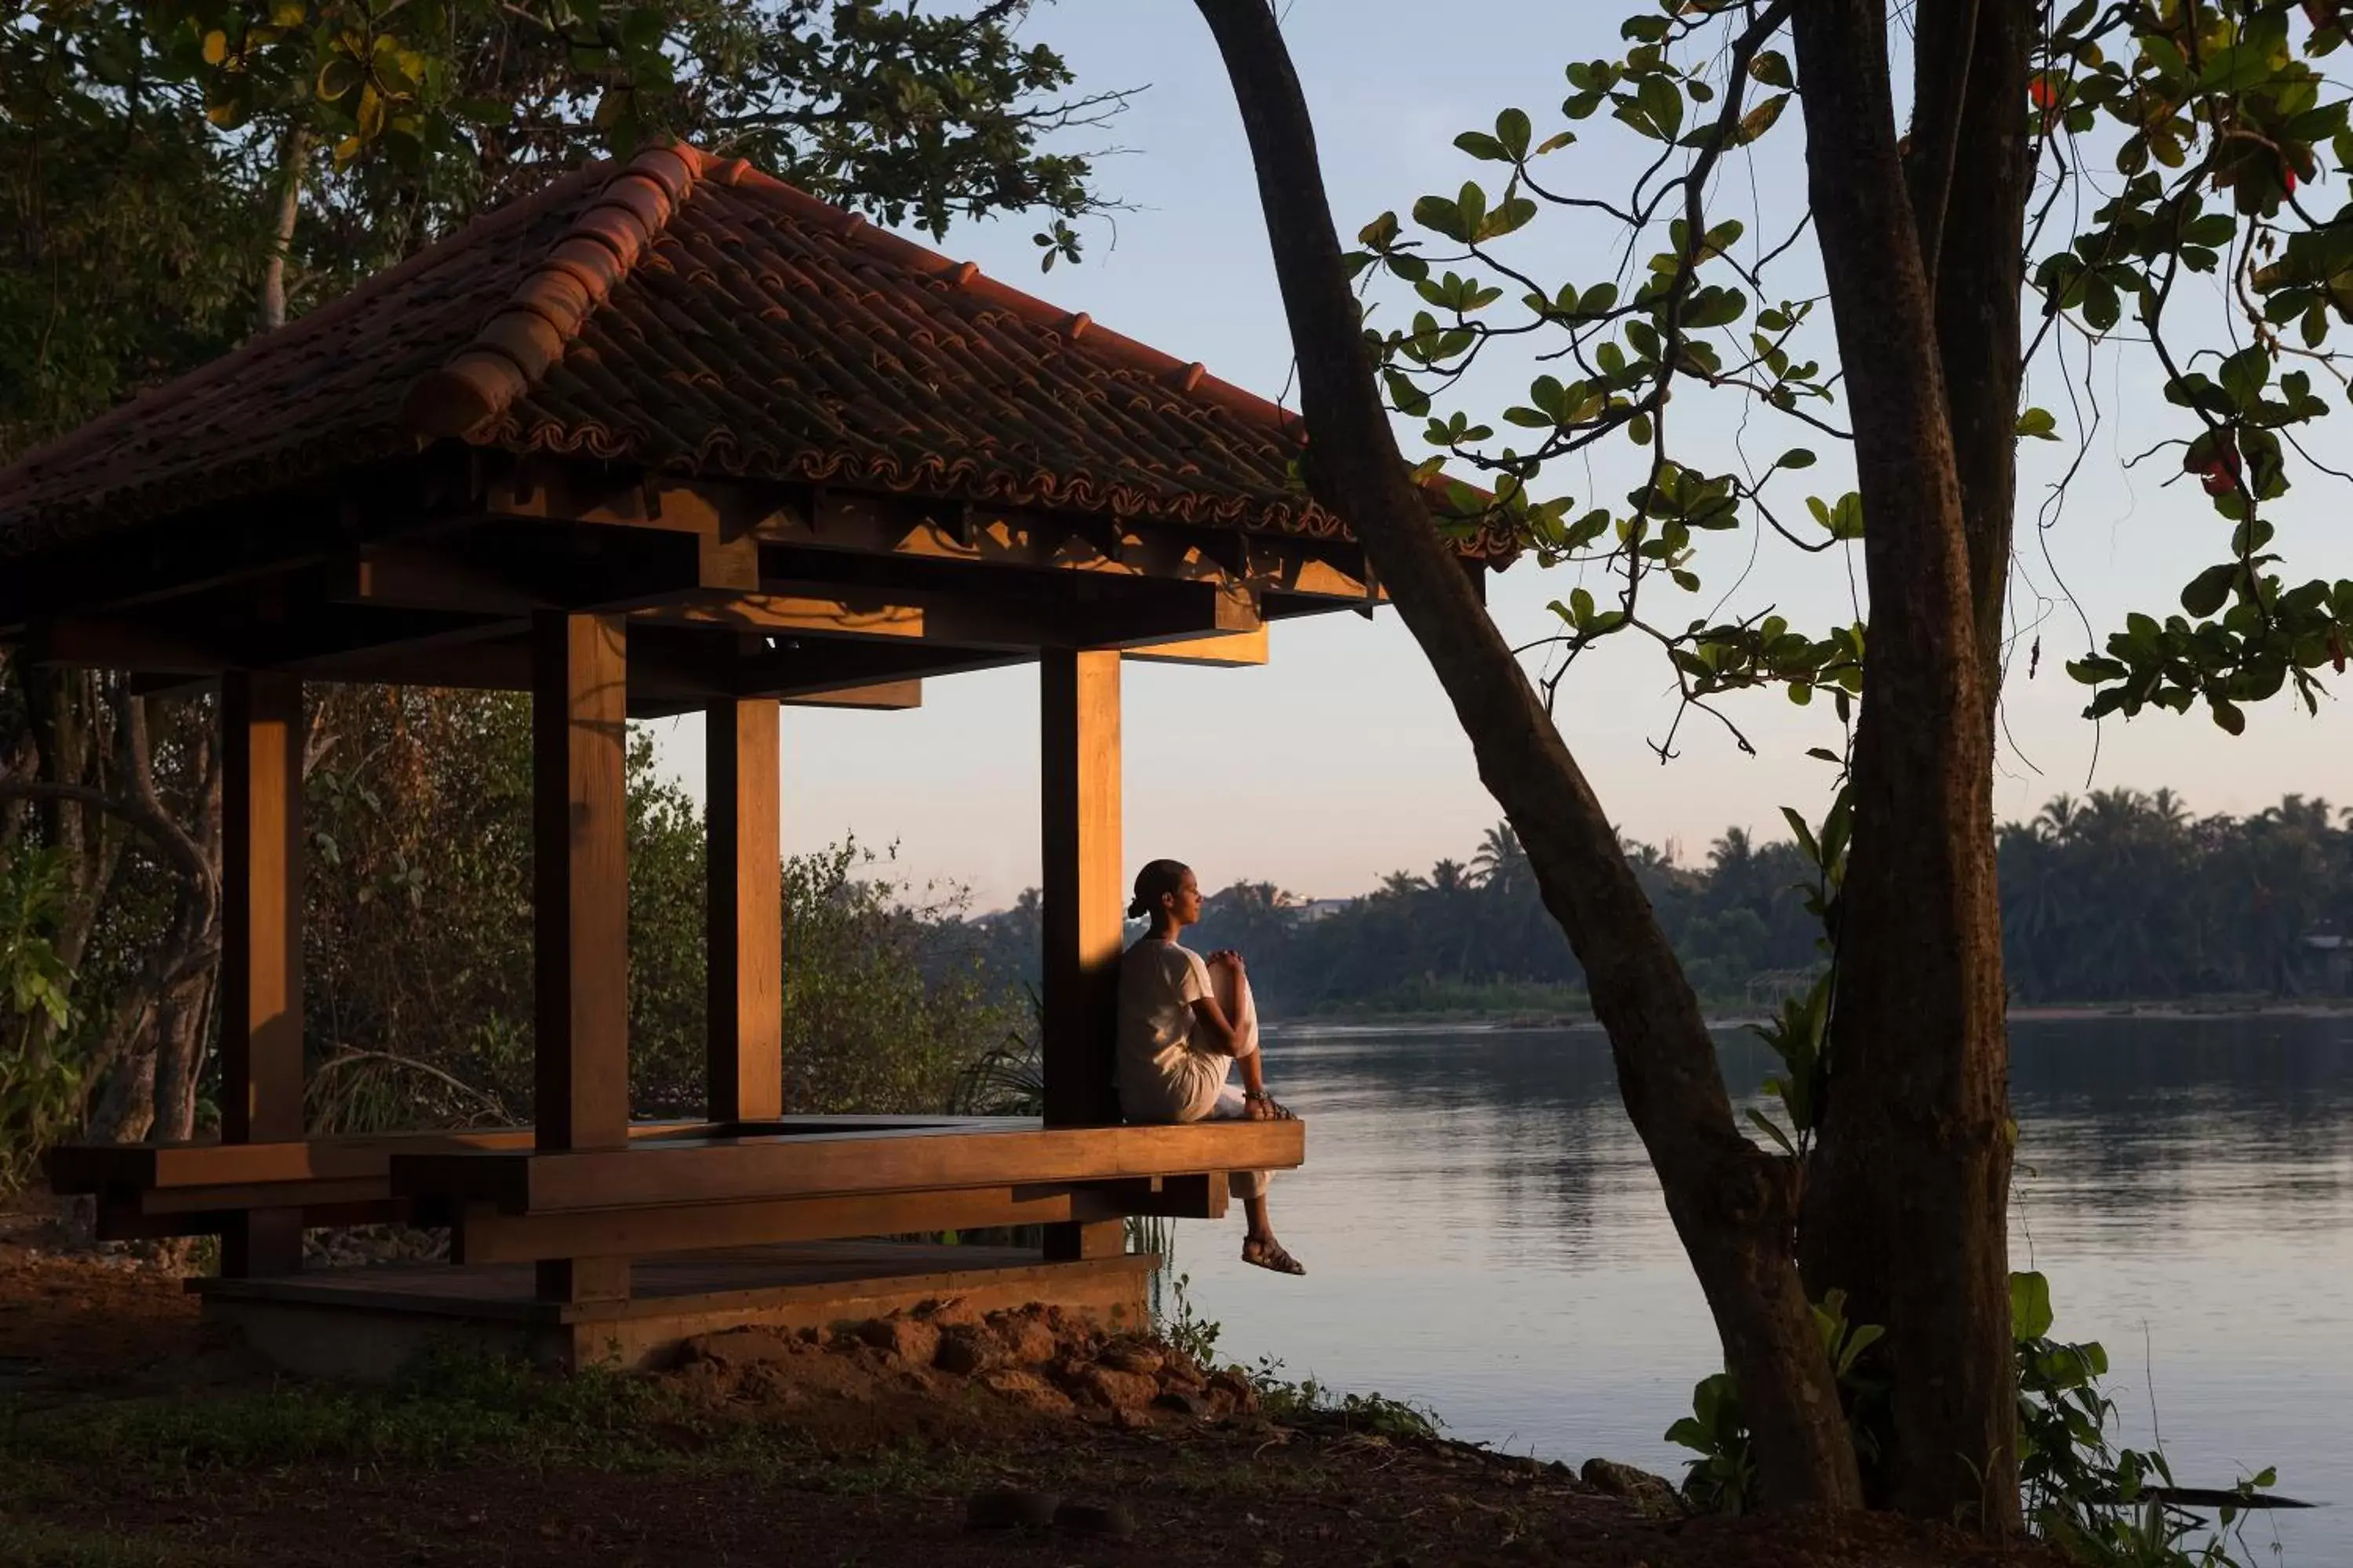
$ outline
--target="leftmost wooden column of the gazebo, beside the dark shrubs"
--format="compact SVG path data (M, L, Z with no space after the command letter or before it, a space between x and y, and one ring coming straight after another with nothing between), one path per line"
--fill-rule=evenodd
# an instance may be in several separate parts
M304 1135L301 677L221 677L221 1143ZM301 1208L221 1232L221 1274L301 1267Z

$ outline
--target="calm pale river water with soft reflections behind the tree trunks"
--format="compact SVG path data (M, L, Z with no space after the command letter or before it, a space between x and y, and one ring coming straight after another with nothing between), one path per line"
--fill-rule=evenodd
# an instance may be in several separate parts
M1720 1039L1753 1100L1772 1058ZM1266 1056L1311 1119L1273 1190L1311 1274L1242 1267L1238 1213L1179 1227L1221 1354L1680 1479L1661 1432L1715 1338L1600 1032L1294 1027ZM2278 1465L2337 1505L2275 1514L2282 1559L2353 1561L2353 1018L2017 1023L2012 1103L2017 1262L2059 1338L2106 1342L2125 1439L2160 1429L2186 1486Z

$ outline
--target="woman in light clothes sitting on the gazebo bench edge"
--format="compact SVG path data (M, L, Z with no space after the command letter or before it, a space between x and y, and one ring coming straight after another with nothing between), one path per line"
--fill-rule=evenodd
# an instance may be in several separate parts
M1176 860L1153 860L1136 875L1127 919L1151 929L1120 957L1120 1114L1129 1121L1294 1121L1266 1093L1259 1060L1259 1009L1240 952L1207 961L1176 936L1200 919L1200 882ZM1242 1065L1242 1086L1226 1079ZM1282 1251L1266 1218L1266 1171L1233 1171L1249 1229L1242 1262L1278 1274L1306 1274Z

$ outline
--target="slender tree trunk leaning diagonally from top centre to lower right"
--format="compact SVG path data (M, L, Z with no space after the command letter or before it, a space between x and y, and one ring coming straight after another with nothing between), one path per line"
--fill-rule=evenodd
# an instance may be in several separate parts
M1332 230L1313 125L1266 0L1198 5L1249 132L1313 435L1308 487L1355 527L1586 969L1619 1093L1739 1380L1765 1500L1854 1507L1854 1446L1791 1255L1793 1168L1739 1133L1699 1001L1609 818L1407 477Z

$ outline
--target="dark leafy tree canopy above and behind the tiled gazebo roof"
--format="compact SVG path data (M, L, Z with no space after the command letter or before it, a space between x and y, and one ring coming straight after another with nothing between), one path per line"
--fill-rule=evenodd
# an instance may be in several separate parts
M1026 0L38 0L0 28L0 456L647 136L889 223L1101 212ZM271 303L278 303L273 310ZM256 308L259 306L259 308Z

